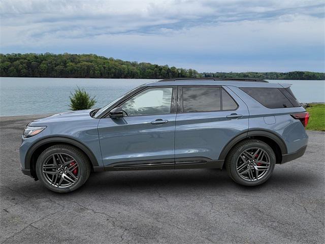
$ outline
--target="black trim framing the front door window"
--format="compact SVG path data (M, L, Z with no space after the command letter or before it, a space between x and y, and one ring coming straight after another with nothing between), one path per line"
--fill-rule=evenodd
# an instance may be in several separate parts
M116 107L120 107L123 103L127 102L128 100L134 98L135 96L137 96L138 94L144 92L145 90L148 89L154 89L154 88L173 88L172 89L172 100L171 100L171 110L170 113L158 113L158 114L143 114L143 115L127 115L125 117L140 117L140 116L152 116L152 115L167 115L167 114L176 114L176 110L177 110L177 106L176 106L176 101L177 101L177 86L176 85L159 85L159 86L144 86L143 89L137 90L135 93L130 94L129 96L122 98L121 100L119 100L118 102L116 102L111 108L109 108L108 112L105 114L105 118L110 118L109 114L110 111L113 108Z

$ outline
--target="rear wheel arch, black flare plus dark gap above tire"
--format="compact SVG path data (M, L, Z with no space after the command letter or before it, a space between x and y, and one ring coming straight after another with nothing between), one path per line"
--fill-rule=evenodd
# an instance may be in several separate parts
M251 130L248 132L244 132L240 135L234 137L230 142L228 142L223 149L221 150L219 160L225 160L229 151L239 142L245 139L257 139L267 143L273 149L276 155L276 162L282 162L282 155L287 154L287 147L283 139L275 134L274 132L268 130Z

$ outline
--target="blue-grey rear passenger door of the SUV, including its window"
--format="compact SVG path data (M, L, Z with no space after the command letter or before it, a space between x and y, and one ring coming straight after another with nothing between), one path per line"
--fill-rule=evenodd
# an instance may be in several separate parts
M248 117L246 104L228 87L179 87L175 167L221 167L221 150L248 129Z

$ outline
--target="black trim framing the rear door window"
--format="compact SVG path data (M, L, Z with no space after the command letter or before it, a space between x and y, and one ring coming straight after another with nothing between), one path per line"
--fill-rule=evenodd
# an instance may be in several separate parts
M183 87L218 87L220 88L220 110L211 111L194 111L194 112L183 112ZM226 92L236 103L236 109L222 110L222 89ZM237 101L229 94L229 92L223 88L222 85L179 85L177 89L178 99L177 99L177 114L178 113L211 113L211 112L223 112L223 111L236 111L239 108Z

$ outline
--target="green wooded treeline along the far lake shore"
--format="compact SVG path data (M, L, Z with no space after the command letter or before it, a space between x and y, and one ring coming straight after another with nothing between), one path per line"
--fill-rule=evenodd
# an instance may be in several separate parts
M95 54L0 54L2 77L57 78L142 78L164 79L179 77L259 78L270 80L325 80L325 73L244 72L198 73L192 69L128 62Z

